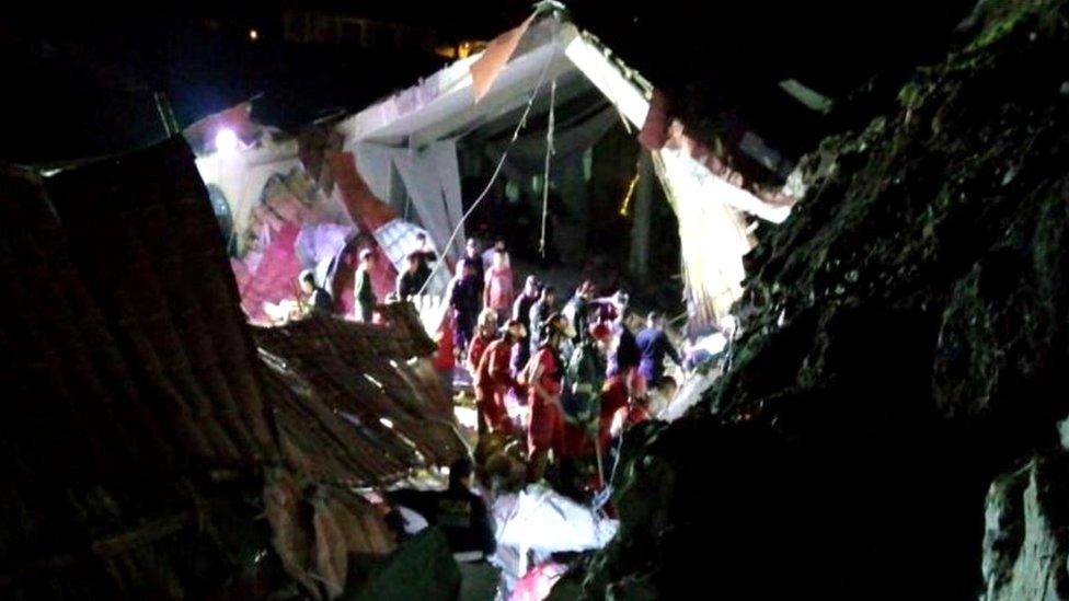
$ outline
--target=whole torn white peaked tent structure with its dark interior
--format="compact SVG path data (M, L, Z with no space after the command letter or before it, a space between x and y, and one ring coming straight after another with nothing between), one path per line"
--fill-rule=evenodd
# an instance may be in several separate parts
M383 298L424 232L447 265L471 233L542 256L625 257L622 268L646 285L681 271L691 321L715 324L740 298L754 220L781 222L793 203L782 185L792 165L760 136L746 130L729 147L696 139L670 99L559 10L315 126L315 143L249 113L240 105L187 136L257 320L264 302L292 296L303 268L352 312L357 246L387 259L375 281ZM216 148L219 131L244 143ZM556 230L548 240L547 229ZM440 293L448 269L436 275Z

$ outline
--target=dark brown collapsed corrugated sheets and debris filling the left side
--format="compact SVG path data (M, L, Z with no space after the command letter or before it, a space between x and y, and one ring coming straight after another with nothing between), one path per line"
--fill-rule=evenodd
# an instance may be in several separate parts
M251 330L181 138L3 169L7 597L333 598L394 552L359 492L465 452L411 311Z

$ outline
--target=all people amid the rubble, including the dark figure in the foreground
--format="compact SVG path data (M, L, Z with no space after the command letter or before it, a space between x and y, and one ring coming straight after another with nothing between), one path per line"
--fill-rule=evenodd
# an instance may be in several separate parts
M370 322L378 303L371 274L379 258L370 250L358 257L355 316ZM421 236L391 296L425 293L436 261ZM536 275L518 290L514 281L504 243L482 252L475 240L467 241L444 296L448 310L435 338L434 363L450 391L456 366L471 375L479 437L474 462L458 460L445 490L394 490L387 499L399 533L418 529L413 524L421 521L439 528L463 581L490 587L497 578L486 563L496 545L493 519L486 499L471 489L473 475L481 473L479 489L491 499L543 479L559 492L570 479L564 485L570 493L594 498L611 481L625 430L657 416L675 396L666 361L686 362L665 332L663 315L651 312L639 325L623 290L599 296L584 281L562 298ZM302 273L299 286L306 314L333 312L330 293L312 273ZM421 518L400 517L410 510Z

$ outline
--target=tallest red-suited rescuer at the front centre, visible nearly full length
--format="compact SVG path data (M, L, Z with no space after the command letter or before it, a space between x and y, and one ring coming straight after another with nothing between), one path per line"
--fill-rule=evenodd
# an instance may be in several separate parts
M531 407L527 429L528 477L541 479L549 464L564 455L564 407L561 405L564 361L560 348L564 340L575 337L571 323L560 313L545 320L539 339L541 344L524 368Z

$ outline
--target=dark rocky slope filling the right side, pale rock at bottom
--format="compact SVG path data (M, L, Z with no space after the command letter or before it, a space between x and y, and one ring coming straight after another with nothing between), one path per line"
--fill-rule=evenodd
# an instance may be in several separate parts
M803 162L731 369L631 435L620 535L562 591L1069 597L1069 9L975 16Z

